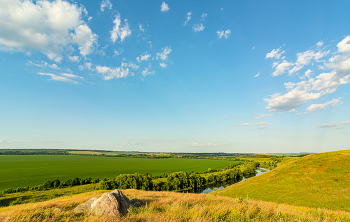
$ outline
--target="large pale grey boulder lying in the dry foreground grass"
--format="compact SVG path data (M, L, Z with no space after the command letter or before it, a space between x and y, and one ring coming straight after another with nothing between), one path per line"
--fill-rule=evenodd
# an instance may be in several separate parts
M142 200L129 200L120 190L104 193L100 198L91 198L74 209L74 213L90 213L92 215L123 216L128 213L129 207L140 207Z

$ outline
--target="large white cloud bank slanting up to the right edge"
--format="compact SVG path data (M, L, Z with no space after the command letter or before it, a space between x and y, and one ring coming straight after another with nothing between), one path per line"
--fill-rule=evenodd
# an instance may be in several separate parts
M333 56L328 62L322 61L324 62L324 69L329 69L329 71L323 72L315 78L311 78L311 72L306 71L307 75L304 75L304 78L308 78L308 80L303 80L298 83L286 83L287 92L285 94L276 93L270 95L270 98L265 98L264 100L267 102L266 108L271 112L293 110L309 100L318 99L323 95L334 93L340 85L348 84L350 82L349 41L349 36L344 38L337 44L337 53L333 53ZM311 57L317 62L317 58L324 56L324 53L325 52L322 52L318 56L312 55ZM309 54L309 52L307 54ZM300 54L298 57L299 56ZM310 110L317 107L319 106L311 107Z

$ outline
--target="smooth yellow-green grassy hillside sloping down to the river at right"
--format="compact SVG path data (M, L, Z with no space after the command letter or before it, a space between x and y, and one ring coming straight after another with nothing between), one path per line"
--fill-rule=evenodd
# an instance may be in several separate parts
M301 157L215 194L350 212L350 150Z

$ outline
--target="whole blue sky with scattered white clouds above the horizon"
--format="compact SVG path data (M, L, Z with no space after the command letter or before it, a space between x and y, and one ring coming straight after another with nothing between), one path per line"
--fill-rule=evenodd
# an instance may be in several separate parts
M349 1L0 1L0 148L350 148Z

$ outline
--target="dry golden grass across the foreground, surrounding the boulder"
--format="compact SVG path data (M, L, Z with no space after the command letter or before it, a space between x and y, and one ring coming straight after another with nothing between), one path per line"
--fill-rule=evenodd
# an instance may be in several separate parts
M146 205L122 218L74 215L73 209L107 191L0 208L0 221L350 221L350 213L210 194L123 190ZM60 210L58 210L60 209Z

